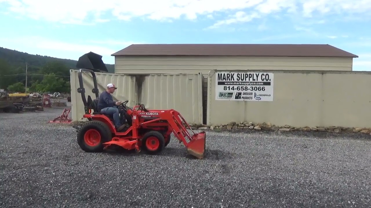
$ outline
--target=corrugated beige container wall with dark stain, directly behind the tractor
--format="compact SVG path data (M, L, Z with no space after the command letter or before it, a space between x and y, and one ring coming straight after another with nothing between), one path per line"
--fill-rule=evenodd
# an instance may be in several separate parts
M78 71L70 71L71 80L71 105L72 119L81 120L84 114L84 107L81 94L77 93L79 88ZM108 83L117 86L112 95L114 100L125 101L133 107L137 104L144 104L150 109L174 109L179 111L189 123L202 123L202 75L197 74L105 74L95 73L98 81L99 93L105 90ZM95 95L93 79L91 74L83 73L83 84L85 96Z

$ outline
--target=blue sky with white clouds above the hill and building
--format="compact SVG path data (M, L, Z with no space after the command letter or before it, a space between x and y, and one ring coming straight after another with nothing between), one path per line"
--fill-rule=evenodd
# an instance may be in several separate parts
M131 44L330 44L371 71L371 0L0 0L0 47L77 60Z

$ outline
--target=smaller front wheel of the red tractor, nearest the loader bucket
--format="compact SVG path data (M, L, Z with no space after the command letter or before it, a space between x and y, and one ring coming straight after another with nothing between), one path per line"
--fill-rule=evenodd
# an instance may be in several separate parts
M157 154L165 148L165 138L158 131L148 131L142 137L142 148L148 154Z

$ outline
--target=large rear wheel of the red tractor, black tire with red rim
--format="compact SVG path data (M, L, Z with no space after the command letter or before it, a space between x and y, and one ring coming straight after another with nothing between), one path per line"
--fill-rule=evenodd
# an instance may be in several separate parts
M87 121L77 133L77 142L85 152L102 152L103 143L111 140L111 135L102 121Z

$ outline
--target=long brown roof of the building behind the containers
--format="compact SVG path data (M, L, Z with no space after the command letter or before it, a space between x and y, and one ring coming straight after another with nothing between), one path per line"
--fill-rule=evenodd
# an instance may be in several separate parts
M358 57L328 44L132 44L111 56Z

